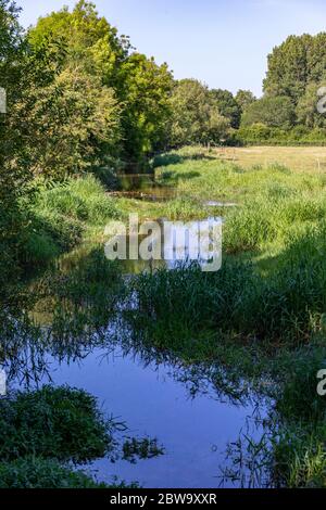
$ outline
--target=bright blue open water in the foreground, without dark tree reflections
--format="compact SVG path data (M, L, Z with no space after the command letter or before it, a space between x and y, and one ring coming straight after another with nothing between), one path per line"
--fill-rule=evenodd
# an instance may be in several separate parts
M118 348L111 354L95 349L71 364L51 359L50 374L54 384L98 397L108 415L127 423L128 434L156 437L164 446L165 455L136 464L96 461L91 472L106 482L116 475L153 488L218 487L227 444L247 430L247 419L255 412L253 403L237 406L227 397L217 398L210 384L193 394L191 379L183 381L181 370L168 364L145 365L139 356L125 356ZM250 429L253 437L262 434L261 428ZM223 486L240 486L240 481Z

